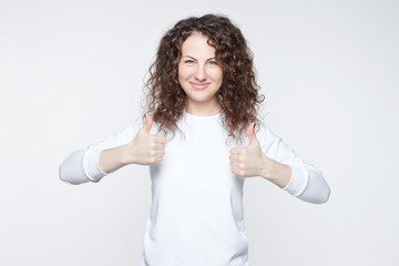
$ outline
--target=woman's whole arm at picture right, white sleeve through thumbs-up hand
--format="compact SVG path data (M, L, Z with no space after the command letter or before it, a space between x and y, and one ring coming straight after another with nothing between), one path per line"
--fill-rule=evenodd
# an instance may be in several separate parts
M247 146L231 150L232 172L243 177L262 176L305 202L327 202L330 190L321 172L259 124L257 134L255 124L249 125Z

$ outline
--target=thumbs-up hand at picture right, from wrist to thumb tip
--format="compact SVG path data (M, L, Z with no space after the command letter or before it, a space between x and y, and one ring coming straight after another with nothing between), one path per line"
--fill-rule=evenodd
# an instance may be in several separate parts
M272 163L269 161L273 161L263 154L254 129L255 123L250 123L247 131L249 140L247 146L231 149L229 165L232 172L242 177L263 176L265 167L267 168Z

